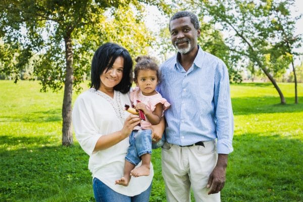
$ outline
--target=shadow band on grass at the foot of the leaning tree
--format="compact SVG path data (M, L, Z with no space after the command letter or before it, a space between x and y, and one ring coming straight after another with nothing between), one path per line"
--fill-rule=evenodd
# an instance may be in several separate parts
M286 97L291 100L292 97ZM303 100L303 97L298 97ZM264 97L235 97L231 99L234 115L249 115L260 113L302 112L303 104L278 104L279 98L274 96Z

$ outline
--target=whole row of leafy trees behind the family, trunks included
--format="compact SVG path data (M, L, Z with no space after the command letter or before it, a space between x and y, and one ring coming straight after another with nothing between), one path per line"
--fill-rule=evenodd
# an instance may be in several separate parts
M291 17L294 1L172 1L165 0L3 0L0 2L0 75L38 79L41 91L64 87L62 144L73 144L71 111L73 89L90 74L95 49L107 41L126 47L132 57L160 50L164 59L174 52L168 20L159 30L143 22L147 5L156 6L169 19L172 13L189 10L201 23L201 47L222 59L231 82L242 81L243 69L262 72L286 104L277 79L291 68L297 98L297 74L293 65L301 53L301 35L294 35ZM208 20L206 20L208 19ZM224 35L228 33L228 35ZM159 62L162 62L161 60ZM297 71L296 71L297 70ZM298 76L299 78L299 76Z

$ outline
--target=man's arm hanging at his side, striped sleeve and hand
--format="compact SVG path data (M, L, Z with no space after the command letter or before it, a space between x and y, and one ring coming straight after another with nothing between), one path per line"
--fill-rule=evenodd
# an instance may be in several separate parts
M218 193L226 181L228 154L232 152L233 114L230 99L229 78L226 66L221 63L215 74L215 108L218 162L207 184L208 194Z

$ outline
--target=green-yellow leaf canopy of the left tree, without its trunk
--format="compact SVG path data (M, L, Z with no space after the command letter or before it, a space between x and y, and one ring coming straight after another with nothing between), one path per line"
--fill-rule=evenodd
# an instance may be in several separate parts
M143 47L149 46L154 38L140 21L139 14L132 11L135 7L131 7L127 2L125 4L113 2L113 4L106 1L96 1L96 4L90 1L3 2L0 7L6 12L1 16L4 22L1 26L1 36L5 44L8 46L14 44L14 48L8 50L8 54L1 58L9 60L9 56L13 56L10 53L16 51L23 53L18 55L18 58L23 57L16 60L15 64L6 63L3 72L8 75L16 72L15 79L18 80L18 72L25 68L34 54L37 54L39 57L35 60L34 74L42 77L43 91L47 87L60 90L65 81L64 37L67 34L71 34L73 38L74 77L79 78L74 80L74 86L79 86L83 75L85 77L85 74L89 73L92 54L104 42L112 41L126 45L133 56L145 54L146 52L142 52ZM25 9L21 10L22 7ZM108 7L111 12L107 13ZM13 12L14 15L9 12ZM114 19L111 17L113 15ZM141 31L134 34L136 32L134 27ZM22 41L26 43L21 43Z

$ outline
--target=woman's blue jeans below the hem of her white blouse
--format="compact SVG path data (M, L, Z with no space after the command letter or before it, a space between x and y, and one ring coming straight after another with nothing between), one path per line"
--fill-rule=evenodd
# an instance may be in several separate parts
M148 202L151 191L150 184L150 186L142 193L135 196L127 196L114 191L97 178L93 178L92 187L96 202Z

